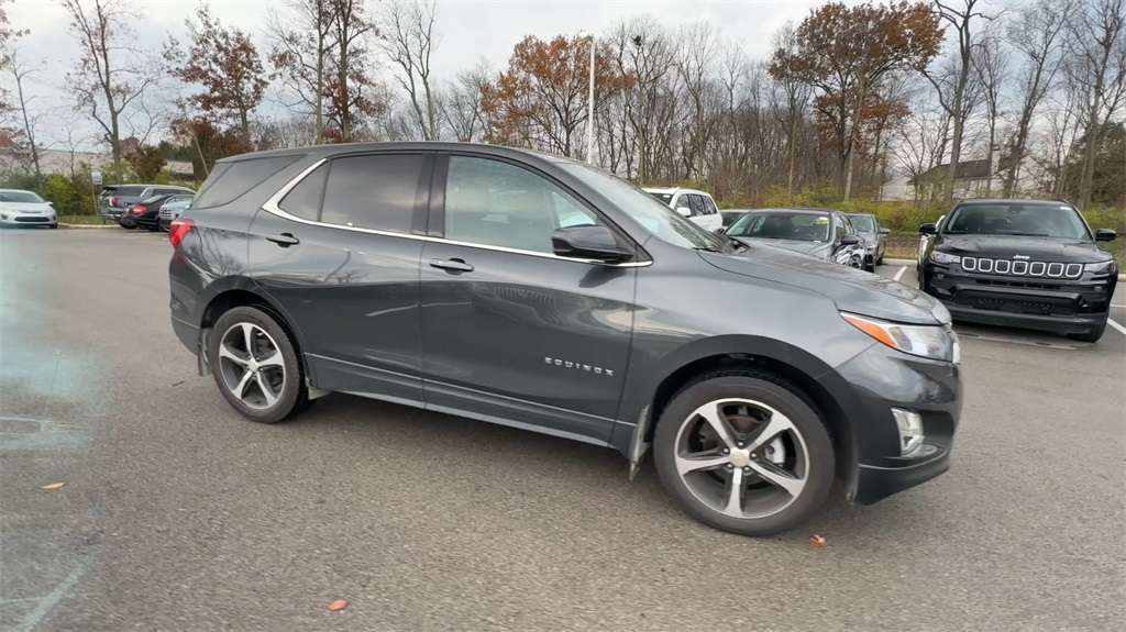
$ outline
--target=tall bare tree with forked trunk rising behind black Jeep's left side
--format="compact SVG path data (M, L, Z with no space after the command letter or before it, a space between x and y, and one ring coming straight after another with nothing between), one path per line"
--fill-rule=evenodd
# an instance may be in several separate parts
M954 184L958 177L958 161L962 159L962 143L965 135L966 120L969 118L968 92L975 79L973 70L974 22L980 19L992 20L981 11L975 11L980 0L963 0L962 7L935 0L935 10L941 19L954 27L957 34L957 51L953 63L939 63L938 71L928 70L924 76L938 92L942 108L950 115L954 132L950 138L950 166L946 174L942 189L942 200L949 204L954 199Z

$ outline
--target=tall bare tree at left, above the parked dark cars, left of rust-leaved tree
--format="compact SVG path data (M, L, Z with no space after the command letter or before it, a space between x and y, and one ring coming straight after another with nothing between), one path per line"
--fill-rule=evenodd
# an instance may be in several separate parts
M70 15L70 29L79 44L74 70L66 75L66 87L74 107L86 110L109 143L114 177L125 179L122 139L134 135L144 108L142 97L163 75L158 55L135 46L132 24L142 16L124 0L62 0ZM129 115L135 114L135 118ZM151 124L152 120L148 119ZM143 124L142 124L143 125Z

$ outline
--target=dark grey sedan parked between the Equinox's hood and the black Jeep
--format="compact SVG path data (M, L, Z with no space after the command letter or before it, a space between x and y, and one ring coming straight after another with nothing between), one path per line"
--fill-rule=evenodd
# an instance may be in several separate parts
M865 268L865 242L843 213L811 208L760 208L748 211L723 234L741 242L769 240L780 249L799 252L849 268Z

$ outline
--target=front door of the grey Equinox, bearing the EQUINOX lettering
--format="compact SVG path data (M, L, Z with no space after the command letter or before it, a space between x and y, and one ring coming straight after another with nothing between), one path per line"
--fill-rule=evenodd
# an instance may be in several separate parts
M435 187L421 265L427 408L606 443L637 268L557 256L552 233L577 215L609 224L545 174L494 157L439 159Z

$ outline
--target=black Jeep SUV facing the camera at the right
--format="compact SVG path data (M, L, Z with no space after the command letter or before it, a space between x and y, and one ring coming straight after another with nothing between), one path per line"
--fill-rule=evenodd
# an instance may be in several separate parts
M933 235L922 253L919 285L954 318L1067 334L1096 342L1107 328L1118 270L1096 242L1115 232L1091 231L1062 200L964 200L944 220L923 224Z

